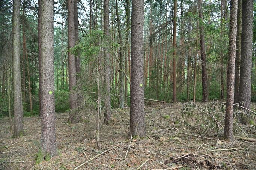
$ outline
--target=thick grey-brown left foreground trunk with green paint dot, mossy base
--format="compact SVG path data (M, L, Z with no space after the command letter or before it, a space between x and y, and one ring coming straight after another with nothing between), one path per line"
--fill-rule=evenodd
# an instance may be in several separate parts
M55 103L54 103L54 30L53 30L53 1L41 1L41 149L44 159L57 155L55 136Z

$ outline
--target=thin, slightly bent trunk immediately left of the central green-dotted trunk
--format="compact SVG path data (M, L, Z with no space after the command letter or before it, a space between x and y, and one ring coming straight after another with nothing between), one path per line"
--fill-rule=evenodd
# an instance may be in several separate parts
M123 40L122 40L122 33L121 33L121 22L118 13L118 0L116 0L116 18L117 18L117 25L118 25L118 35L120 40L120 77L119 77L119 92L120 92L120 108L124 108L124 74L125 71L125 58L123 56Z

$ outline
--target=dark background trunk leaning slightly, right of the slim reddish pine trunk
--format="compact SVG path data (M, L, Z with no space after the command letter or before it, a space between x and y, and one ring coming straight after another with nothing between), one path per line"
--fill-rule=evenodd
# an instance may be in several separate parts
M207 83L207 71L206 71L206 55L205 55L205 35L203 27L203 9L202 0L199 0L199 18L201 24L200 30L200 48L201 48L201 62L202 62L202 84L203 84L203 102L208 102L208 83Z

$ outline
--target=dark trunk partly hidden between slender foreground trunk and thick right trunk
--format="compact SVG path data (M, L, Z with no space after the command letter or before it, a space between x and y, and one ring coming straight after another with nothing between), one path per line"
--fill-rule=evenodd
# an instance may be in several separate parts
M234 103L238 102L238 94L239 94L240 61L241 61L241 34L242 34L242 0L238 0Z

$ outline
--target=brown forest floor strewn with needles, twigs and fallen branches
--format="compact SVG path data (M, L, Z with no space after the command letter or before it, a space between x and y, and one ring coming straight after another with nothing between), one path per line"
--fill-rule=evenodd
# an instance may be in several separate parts
M252 108L255 107L254 103ZM256 139L255 126L244 126L245 130L235 133L234 142L226 142L221 140L223 128L217 132L209 126L211 122L200 122L198 117L202 115L184 121L182 108L183 103L146 106L147 137L131 142L127 139L130 108L113 109L113 121L109 125L103 125L101 118L99 149L95 114L86 117L90 113L84 112L84 122L68 125L68 113L57 113L56 139L60 154L40 164L35 164L41 137L40 118L24 117L26 136L17 139L11 138L8 118L1 118L0 169L73 170L107 149L110 150L78 169L256 169L256 142L241 140L241 137Z

